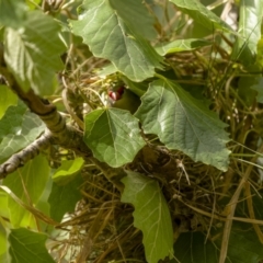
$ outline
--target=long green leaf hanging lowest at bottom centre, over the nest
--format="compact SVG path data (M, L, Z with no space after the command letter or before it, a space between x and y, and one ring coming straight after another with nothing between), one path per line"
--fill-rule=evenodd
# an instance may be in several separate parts
M127 172L122 180L122 202L135 207L134 225L144 233L147 262L157 263L173 253L173 228L167 201L158 182L139 173Z

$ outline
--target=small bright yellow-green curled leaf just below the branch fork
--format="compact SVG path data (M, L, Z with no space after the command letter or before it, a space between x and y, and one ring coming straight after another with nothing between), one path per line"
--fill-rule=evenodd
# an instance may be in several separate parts
M75 175L81 170L83 164L84 160L82 158L62 161L61 165L53 174L53 179L55 180L61 176Z

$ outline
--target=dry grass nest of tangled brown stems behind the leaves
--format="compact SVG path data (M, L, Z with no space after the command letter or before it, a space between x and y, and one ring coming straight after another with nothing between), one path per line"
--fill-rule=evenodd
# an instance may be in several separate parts
M84 93L82 80L94 76L91 64L101 67L105 62L94 58L90 60L79 69L77 77L71 76L82 84L76 85L70 78L67 80L68 85L75 91L79 89L81 94ZM255 163L262 110L255 98L249 104L239 90L240 79L250 75L238 61L231 61L229 55L216 44L191 53L169 55L167 62L178 82L185 89L194 87L196 93L210 101L210 110L228 124L226 130L230 141L227 147L231 151L229 169L222 172L194 162L183 152L165 149L158 140L149 140L151 142L125 169L159 182L172 217L174 241L182 232L188 231L203 231L209 237L209 230L214 227L221 227L224 239L227 218L255 222L251 196L261 190ZM101 85L95 88L99 92L102 89ZM95 101L93 93L84 94ZM80 107L80 104L77 106L72 103L71 110L81 116L83 108ZM142 233L133 226L134 208L121 202L122 183L117 176L116 180L108 179L108 169L101 163L87 161L82 170L83 199L78 203L75 214L59 226L67 232L58 250L60 259L67 255L71 259L69 262L82 262L84 259L96 263L146 262ZM118 175L118 171L115 175ZM240 199L245 201L249 207L243 219L233 218L236 204ZM261 230L254 229L262 240Z

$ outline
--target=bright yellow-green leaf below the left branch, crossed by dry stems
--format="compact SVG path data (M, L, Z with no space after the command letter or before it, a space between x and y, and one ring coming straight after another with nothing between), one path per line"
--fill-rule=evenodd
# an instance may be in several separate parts
M26 194L21 182L21 176L25 184L26 191L33 205L36 205L42 193L45 190L49 178L50 168L44 156L37 156L28 161L19 171L13 172L3 180L3 185L7 185L21 201L27 203ZM16 204L9 196L10 220L13 227L28 226L28 211L24 207ZM23 220L24 219L24 220Z

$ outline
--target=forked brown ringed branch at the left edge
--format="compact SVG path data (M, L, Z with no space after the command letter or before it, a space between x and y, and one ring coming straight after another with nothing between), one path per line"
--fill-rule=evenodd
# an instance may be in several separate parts
M2 55L3 48L0 43L0 73L8 85L18 94L18 96L28 106L31 112L38 115L45 123L46 133L27 146L24 150L13 155L8 161L0 165L0 179L15 171L19 167L25 164L43 149L52 144L59 145L66 149L71 149L76 153L90 157L91 150L83 142L83 134L70 125L66 124L65 117L57 111L56 106L47 100L39 98L33 90L23 91L11 72L9 72Z

